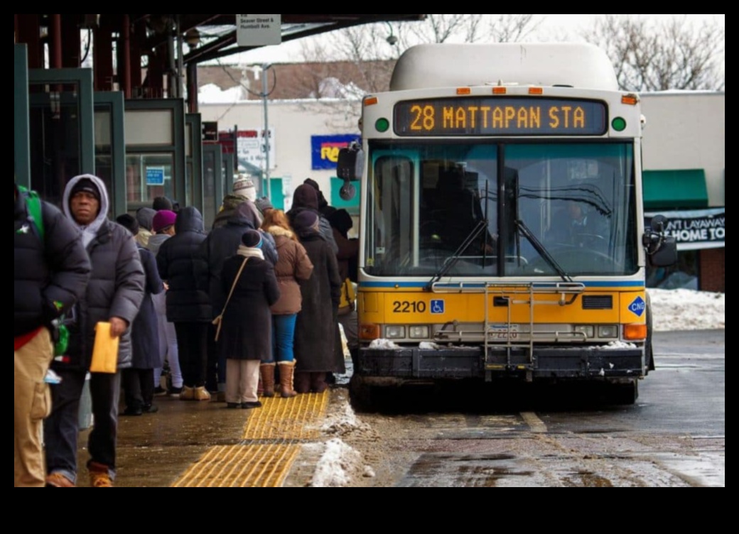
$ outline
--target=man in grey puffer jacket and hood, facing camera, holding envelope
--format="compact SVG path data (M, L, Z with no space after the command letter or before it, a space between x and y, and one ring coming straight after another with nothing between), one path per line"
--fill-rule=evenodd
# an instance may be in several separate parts
M146 278L133 236L107 217L109 199L103 180L92 174L69 180L62 208L81 232L92 273L75 306L67 354L52 363L61 383L52 386L52 413L44 422L47 486L76 484L80 398L92 361L95 325L107 321L111 335L120 337L118 371L91 374L95 425L89 434L87 469L92 487L110 487L115 478L120 369L131 366L130 326L143 300Z

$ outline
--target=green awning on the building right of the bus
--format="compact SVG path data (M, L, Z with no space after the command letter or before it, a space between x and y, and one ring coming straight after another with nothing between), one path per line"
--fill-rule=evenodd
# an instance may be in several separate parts
M706 172L702 168L644 171L644 210L707 208Z

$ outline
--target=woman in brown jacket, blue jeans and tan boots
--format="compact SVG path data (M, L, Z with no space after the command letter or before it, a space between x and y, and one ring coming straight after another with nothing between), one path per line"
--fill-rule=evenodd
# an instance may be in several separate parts
M262 360L262 385L264 396L275 394L275 360L279 369L279 394L294 397L293 371L295 355L293 341L295 322L302 305L299 280L306 281L313 273L313 264L305 248L298 241L287 215L282 210L269 210L262 224L262 230L275 239L277 263L275 274L280 298L272 305L272 357Z

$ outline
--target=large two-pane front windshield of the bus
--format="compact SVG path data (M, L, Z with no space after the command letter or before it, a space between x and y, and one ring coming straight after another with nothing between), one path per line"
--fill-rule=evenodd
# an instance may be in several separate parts
M369 275L637 270L632 143L371 141L369 167Z

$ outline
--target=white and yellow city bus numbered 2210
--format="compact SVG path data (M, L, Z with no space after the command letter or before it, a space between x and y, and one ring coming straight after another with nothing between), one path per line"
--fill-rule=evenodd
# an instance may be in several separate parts
M633 403L654 369L636 93L590 44L423 44L366 95L350 394L388 383L597 384ZM349 189L347 188L347 191Z

